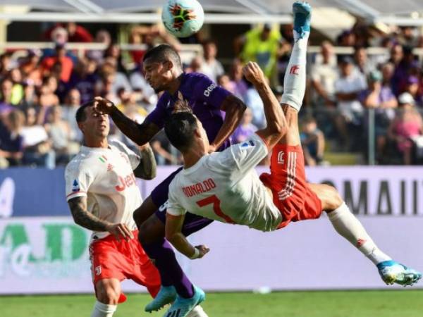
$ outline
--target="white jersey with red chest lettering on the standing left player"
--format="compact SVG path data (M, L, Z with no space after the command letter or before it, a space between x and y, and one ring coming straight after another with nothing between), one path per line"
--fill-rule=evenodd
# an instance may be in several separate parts
M116 140L107 149L81 147L66 166L66 199L87 197L88 211L94 216L135 230L133 212L142 199L133 170L139 163L140 156ZM107 235L93 232L92 239Z

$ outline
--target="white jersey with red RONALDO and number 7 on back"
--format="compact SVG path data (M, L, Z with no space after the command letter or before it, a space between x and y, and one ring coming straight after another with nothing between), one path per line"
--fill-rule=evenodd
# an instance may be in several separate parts
M203 156L176 175L169 186L167 213L196 215L276 230L282 216L259 180L255 166L268 154L256 134L222 152Z

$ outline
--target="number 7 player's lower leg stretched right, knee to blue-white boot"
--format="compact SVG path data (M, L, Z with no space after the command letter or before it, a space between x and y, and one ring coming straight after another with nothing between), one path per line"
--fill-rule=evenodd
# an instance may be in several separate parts
M309 184L309 187L319 197L321 209L328 213L329 220L331 220L336 232L345 237L377 266L379 274L386 284L397 283L407 286L422 278L422 273L393 261L390 256L376 246L334 187L323 184ZM305 207L307 208L307 202Z

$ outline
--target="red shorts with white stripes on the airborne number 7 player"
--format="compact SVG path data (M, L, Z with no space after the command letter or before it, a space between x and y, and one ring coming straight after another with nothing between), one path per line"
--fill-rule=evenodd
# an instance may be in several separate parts
M320 217L321 201L305 179L300 145L276 144L271 154L270 174L263 173L260 180L271 189L274 204L281 211L283 220L278 229L291 221Z

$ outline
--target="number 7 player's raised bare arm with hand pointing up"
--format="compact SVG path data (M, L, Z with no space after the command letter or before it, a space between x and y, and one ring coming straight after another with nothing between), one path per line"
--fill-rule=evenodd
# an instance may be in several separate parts
M264 104L266 128L257 131L257 135L264 139L267 147L272 149L286 133L287 123L281 105L276 99L266 82L263 71L257 63L250 62L243 68L243 73L248 81L254 85Z

